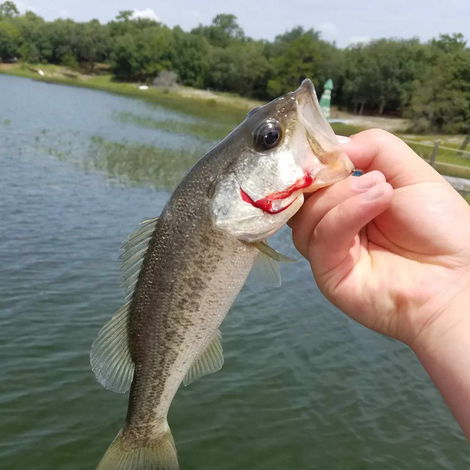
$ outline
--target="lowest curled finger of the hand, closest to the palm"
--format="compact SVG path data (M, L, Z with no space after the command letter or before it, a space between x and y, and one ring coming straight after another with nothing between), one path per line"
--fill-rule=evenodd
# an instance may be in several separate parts
M321 219L309 246L309 260L317 281L327 275L336 287L352 270L360 257L357 235L389 207L392 193L389 183L380 183L346 199Z

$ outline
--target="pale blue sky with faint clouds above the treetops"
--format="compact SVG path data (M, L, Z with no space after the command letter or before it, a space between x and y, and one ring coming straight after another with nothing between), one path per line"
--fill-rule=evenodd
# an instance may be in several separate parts
M1 0L0 0L1 1ZM15 1L15 0L13 0ZM427 41L439 33L462 32L470 45L470 0L21 0L20 11L46 20L72 18L107 23L119 10L159 20L185 31L210 24L219 13L237 16L245 34L272 40L295 26L321 31L339 47L377 38Z

